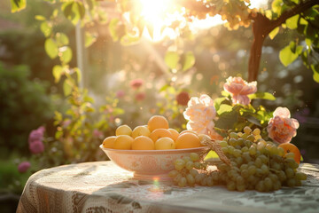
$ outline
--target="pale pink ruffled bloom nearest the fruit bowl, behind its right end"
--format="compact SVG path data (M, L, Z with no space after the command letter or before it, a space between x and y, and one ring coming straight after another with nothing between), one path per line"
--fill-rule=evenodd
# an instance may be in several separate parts
M189 120L186 125L187 130L196 131L198 134L216 136L214 131L216 110L214 101L209 96L201 95L199 99L192 97L188 102L188 107L183 112L183 116L186 120Z

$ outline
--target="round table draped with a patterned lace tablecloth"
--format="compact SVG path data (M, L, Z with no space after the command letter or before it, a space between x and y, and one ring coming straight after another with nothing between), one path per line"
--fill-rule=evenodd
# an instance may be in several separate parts
M113 162L40 170L29 177L17 212L319 212L319 165L303 163L300 187L272 193L224 186L184 187L133 178Z

